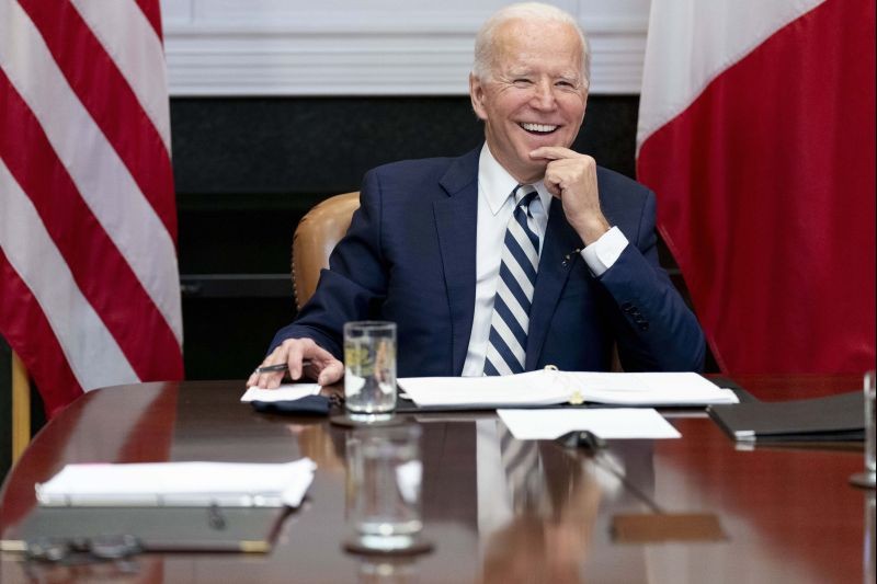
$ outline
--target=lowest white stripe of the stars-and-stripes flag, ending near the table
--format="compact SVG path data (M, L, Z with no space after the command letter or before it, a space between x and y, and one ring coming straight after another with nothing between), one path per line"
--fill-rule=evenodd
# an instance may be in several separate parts
M2 159L0 248L39 304L83 390L139 381Z

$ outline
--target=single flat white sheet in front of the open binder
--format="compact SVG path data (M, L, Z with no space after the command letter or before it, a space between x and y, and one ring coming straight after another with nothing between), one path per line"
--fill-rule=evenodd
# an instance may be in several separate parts
M605 439L680 438L682 435L650 408L497 410L515 438L553 440L589 430Z

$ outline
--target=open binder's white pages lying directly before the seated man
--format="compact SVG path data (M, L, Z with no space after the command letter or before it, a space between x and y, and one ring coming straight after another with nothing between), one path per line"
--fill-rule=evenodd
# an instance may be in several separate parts
M514 408L593 402L612 405L737 403L737 394L694 373L542 369L500 377L407 377L399 387L421 408Z

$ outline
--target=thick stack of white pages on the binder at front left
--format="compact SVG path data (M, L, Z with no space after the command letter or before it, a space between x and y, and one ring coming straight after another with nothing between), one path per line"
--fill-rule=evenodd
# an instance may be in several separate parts
M36 485L41 505L298 506L314 480L309 458L283 463L67 465Z

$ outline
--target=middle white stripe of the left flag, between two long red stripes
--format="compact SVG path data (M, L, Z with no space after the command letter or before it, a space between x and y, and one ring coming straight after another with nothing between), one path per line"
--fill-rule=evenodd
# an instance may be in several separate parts
M10 82L182 345L176 250L168 230L67 83L24 10L0 0L0 21L13 32L0 35L0 62Z

